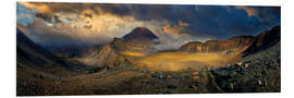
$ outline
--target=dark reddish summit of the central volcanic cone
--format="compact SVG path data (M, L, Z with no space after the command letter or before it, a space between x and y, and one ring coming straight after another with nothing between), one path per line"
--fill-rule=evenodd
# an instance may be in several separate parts
M149 30L147 27L136 27L131 33L124 35L123 39L126 39L126 40L133 40L133 39L154 40L154 39L158 39L158 37L151 30Z

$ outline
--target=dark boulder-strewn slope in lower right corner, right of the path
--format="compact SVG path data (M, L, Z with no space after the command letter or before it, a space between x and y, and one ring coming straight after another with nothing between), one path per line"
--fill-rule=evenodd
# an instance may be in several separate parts
M280 93L281 44L209 72L225 93Z

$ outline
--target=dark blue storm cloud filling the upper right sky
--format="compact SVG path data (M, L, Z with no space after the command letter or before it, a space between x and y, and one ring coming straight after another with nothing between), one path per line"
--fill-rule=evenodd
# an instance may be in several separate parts
M167 20L191 24L187 33L197 36L229 38L236 35L257 35L280 24L280 7L229 5L161 5L107 4L105 11L118 15L132 15L137 20Z

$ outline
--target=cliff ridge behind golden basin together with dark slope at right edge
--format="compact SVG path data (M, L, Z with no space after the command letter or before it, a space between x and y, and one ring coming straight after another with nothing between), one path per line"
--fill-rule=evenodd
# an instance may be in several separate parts
M267 49L281 39L280 26L275 26L270 30L264 32L260 35L253 36L236 36L228 40L208 40L206 42L191 41L183 45L179 51L183 52L234 52L243 57Z

